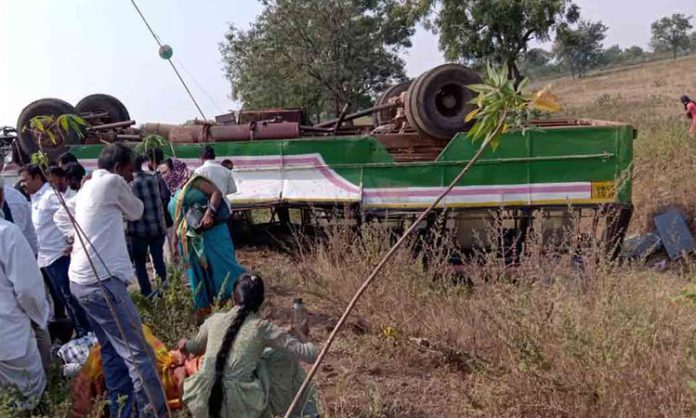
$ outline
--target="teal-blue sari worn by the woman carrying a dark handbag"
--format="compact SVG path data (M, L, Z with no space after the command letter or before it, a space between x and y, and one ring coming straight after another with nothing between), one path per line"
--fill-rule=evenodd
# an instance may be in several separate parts
M202 176L191 177L174 194L169 202L169 212L174 219L179 254L188 271L194 304L197 309L206 310L215 300L230 299L235 282L246 269L237 262L226 223L218 223L201 232L188 228L188 209L196 204L208 206L208 195L198 187L201 181L210 182ZM218 211L221 217L229 217L229 208L224 202Z

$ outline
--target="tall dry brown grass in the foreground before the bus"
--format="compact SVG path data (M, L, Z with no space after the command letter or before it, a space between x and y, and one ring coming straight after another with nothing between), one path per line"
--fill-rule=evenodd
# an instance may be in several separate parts
M385 234L340 231L264 270L276 290L321 313L315 338L325 337L386 250ZM609 273L603 261L578 270L567 255L532 248L514 272L489 262L493 274L477 276L485 269L470 266L473 286L401 251L319 374L328 416L696 413L696 305L685 277Z

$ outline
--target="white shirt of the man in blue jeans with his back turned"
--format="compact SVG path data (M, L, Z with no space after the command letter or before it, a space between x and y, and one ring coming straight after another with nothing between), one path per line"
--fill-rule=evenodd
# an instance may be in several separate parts
M96 170L92 178L67 201L68 208L84 231L88 252L74 234L70 217L64 208L58 209L54 217L56 225L63 234L75 236L72 259L68 275L70 281L78 284L93 284L98 280L89 263L87 255L94 262L99 279L116 277L125 283L133 280L133 265L128 256L123 218L128 221L143 215L143 202L140 201L123 177L106 170Z

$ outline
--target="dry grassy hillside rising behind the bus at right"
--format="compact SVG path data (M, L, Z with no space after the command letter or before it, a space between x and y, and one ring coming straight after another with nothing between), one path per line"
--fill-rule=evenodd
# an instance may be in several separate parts
M689 56L532 83L552 85L564 116L621 121L638 130L631 233L652 230L652 215L669 206L681 208L696 230L696 192L685 181L696 167L696 138L687 135L679 101L683 94L696 96L694 68L696 57Z

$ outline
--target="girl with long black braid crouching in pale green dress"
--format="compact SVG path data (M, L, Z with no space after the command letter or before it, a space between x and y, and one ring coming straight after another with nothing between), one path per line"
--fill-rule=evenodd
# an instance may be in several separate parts
M212 315L195 339L179 342L183 355L204 354L200 370L184 381L184 403L194 418L282 416L305 377L297 359L314 362L314 344L304 342L302 331L294 330L295 338L258 316L261 277L244 274L233 297L233 309ZM293 416L318 416L313 390L307 392Z

